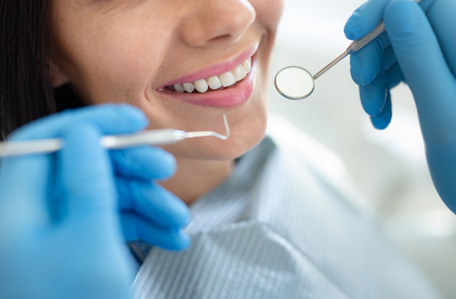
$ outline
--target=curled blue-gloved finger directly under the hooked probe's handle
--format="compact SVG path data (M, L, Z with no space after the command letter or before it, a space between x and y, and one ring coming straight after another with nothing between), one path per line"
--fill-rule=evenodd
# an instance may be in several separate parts
M114 170L138 180L167 179L176 172L176 159L164 149L142 146L109 151Z

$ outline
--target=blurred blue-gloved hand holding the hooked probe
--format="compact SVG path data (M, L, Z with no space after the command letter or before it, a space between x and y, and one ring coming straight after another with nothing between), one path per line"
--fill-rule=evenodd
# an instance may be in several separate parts
M0 298L132 298L134 262L124 238L170 249L189 245L180 230L190 219L187 206L151 180L174 172L173 157L151 147L109 155L99 145L104 134L146 125L137 108L103 105L12 134L12 140L62 137L65 147L1 160Z

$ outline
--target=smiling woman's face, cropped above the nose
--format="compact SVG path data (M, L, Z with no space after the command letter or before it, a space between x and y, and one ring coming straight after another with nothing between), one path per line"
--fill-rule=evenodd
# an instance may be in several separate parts
M224 134L225 113L228 140L187 139L165 149L187 158L236 158L263 138L267 68L282 5L282 0L54 0L54 84L72 82L86 103L135 105L150 119L150 129ZM250 57L252 70L244 77ZM191 91L192 84L180 84L192 82L200 91L204 82L214 89L178 92L182 86Z

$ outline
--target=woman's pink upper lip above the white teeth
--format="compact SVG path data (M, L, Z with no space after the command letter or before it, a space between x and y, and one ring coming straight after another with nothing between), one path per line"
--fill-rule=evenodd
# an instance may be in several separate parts
M242 62L246 61L250 57L252 57L255 52L258 50L258 44L255 46L250 47L248 50L244 51L241 55L238 57L228 60L227 62L223 62L217 65L213 65L211 67L206 67L198 72L195 72L190 75L185 75L182 76L176 80L172 80L170 82L167 82L166 84L163 84L161 87L173 85L173 84L178 84L178 83L188 83L188 82L194 82L200 79L204 79L207 77L211 76L216 76L223 74L224 72L231 71L233 68L237 67L240 65Z

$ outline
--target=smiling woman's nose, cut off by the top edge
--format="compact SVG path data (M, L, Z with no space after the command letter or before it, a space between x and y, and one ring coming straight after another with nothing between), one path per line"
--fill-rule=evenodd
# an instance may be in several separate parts
M192 10L186 16L181 36L189 46L204 46L214 40L238 41L256 16L248 0L188 2L192 2Z

